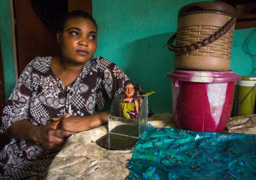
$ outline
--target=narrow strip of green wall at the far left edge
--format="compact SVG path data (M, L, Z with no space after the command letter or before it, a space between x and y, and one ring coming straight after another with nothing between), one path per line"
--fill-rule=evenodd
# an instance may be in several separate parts
M0 41L5 77L5 93L7 101L16 83L9 0L0 1Z

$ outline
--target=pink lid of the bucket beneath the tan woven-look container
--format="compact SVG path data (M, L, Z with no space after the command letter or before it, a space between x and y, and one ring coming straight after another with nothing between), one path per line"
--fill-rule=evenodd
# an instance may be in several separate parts
M167 78L180 81L201 83L222 83L241 80L241 76L234 71L191 71L174 69L167 73Z

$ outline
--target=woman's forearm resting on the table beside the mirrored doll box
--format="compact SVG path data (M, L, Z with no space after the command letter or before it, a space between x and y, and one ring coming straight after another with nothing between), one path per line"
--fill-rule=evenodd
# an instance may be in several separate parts
M98 126L106 125L108 122L108 115L109 111L105 111L88 116L71 116L63 118L57 125L57 128L75 133L89 130Z

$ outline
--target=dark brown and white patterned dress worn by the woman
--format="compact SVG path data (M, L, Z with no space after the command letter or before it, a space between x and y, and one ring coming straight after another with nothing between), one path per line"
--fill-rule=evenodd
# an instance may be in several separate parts
M51 71L51 58L37 57L22 72L3 110L1 133L22 119L39 126L68 112L73 116L97 114L107 97L113 99L128 79L117 65L97 57L85 63L66 89ZM41 179L55 154L39 143L13 138L0 151L0 179Z

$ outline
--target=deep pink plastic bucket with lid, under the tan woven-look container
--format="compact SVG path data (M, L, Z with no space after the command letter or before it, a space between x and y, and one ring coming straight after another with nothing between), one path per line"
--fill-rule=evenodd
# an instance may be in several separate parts
M234 71L172 70L172 112L180 129L200 132L222 132L229 120L235 81Z

